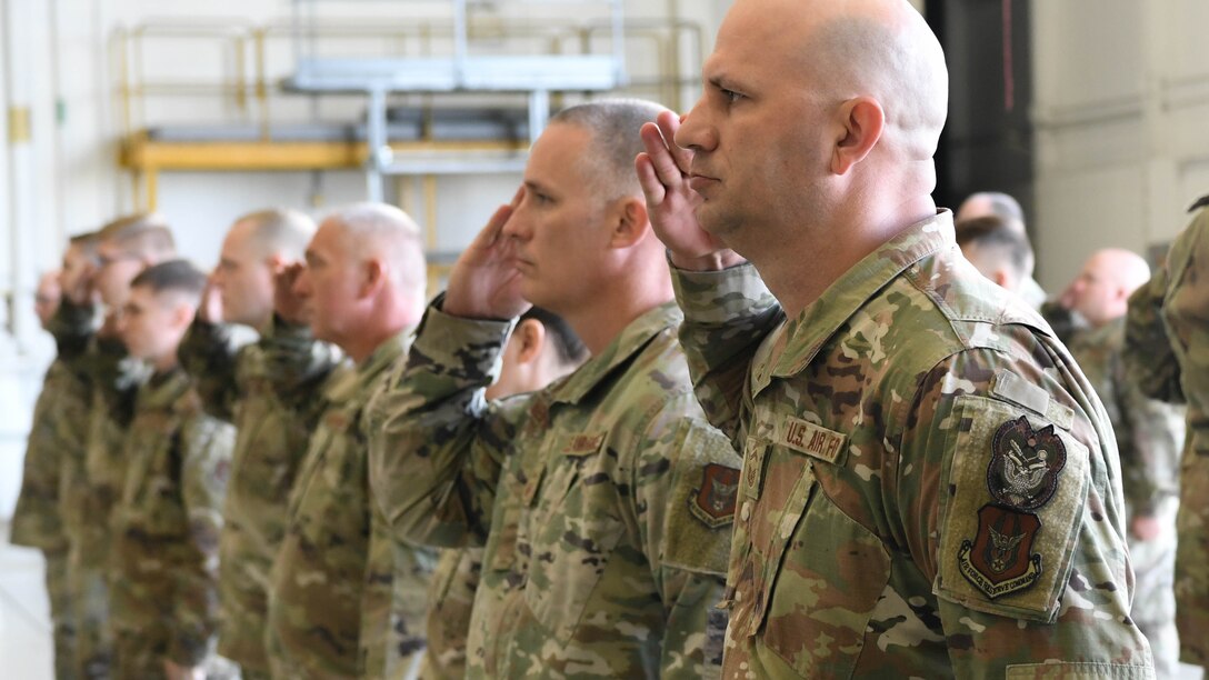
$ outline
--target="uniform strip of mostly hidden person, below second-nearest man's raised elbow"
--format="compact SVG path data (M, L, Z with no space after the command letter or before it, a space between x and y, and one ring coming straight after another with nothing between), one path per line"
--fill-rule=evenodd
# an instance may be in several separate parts
M420 672L424 680L465 678L470 609L481 576L482 548L441 551L428 588L428 649Z

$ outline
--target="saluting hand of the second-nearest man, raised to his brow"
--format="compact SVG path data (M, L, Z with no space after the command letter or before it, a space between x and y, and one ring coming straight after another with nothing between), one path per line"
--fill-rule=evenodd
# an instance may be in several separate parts
M532 306L521 296L516 243L504 234L504 225L523 197L525 188L521 186L513 202L501 206L458 257L450 272L441 311L467 318L504 319L520 316Z

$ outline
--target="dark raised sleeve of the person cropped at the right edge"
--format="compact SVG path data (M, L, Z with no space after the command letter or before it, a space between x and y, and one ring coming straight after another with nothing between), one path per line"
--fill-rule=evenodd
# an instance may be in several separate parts
M1143 394L1182 404L1180 364L1162 317L1167 277L1167 267L1158 267L1150 281L1129 296L1123 358L1129 381Z

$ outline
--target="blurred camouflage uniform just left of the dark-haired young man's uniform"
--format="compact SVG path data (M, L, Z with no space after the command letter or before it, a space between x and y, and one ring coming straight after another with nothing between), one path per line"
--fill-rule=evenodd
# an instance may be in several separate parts
M110 513L121 494L123 442L146 368L122 342L94 332L96 311L64 300L51 323L63 359L88 381L83 448L64 449L59 503L68 536L68 590L76 626L80 678L108 678L112 662L109 628ZM69 436L64 433L64 436Z

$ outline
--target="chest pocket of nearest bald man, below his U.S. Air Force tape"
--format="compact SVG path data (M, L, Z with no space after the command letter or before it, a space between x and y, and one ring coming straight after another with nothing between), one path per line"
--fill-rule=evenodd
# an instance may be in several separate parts
M730 636L758 636L757 647L804 678L848 678L890 580L890 555L822 492L816 473L831 463L781 445L768 455L759 497L747 501L750 553Z

